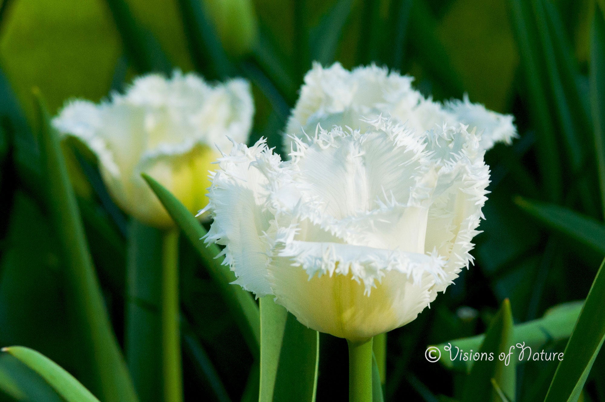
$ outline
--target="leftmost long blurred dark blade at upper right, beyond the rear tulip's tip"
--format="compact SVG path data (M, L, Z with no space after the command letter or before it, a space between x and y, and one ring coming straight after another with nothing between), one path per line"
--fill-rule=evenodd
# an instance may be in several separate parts
M537 157L538 169L546 188L549 199L561 200L561 167L559 151L554 136L554 127L550 118L545 85L541 80L544 68L537 58L538 39L535 27L532 25L532 15L529 5L522 0L509 0L512 10L512 26L521 56L523 75L528 90L529 107L532 120L538 133Z

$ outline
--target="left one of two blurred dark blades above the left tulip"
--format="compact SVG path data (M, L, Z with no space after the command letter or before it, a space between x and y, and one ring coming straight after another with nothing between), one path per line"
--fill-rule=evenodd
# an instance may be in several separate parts
M106 0L126 54L139 73L171 73L172 66L151 33L135 21L125 0Z

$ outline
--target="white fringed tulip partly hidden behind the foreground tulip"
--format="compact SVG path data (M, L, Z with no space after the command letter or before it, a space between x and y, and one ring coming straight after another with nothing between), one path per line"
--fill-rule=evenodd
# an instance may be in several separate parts
M465 124L468 131L477 128L484 150L495 142L509 144L517 136L511 115L471 104L466 95L463 101L434 102L414 90L412 81L412 77L389 73L375 65L347 71L339 63L329 68L313 64L286 128L285 149L289 151L293 145L290 136L304 140L303 132L314 133L318 124L324 128L347 125L357 129L361 128L360 117L381 113L419 132L443 123Z

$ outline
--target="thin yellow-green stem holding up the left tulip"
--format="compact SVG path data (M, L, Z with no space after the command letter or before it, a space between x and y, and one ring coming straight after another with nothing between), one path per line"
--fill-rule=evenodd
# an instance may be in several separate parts
M162 354L164 400L183 400L178 303L178 230L164 234L162 242Z

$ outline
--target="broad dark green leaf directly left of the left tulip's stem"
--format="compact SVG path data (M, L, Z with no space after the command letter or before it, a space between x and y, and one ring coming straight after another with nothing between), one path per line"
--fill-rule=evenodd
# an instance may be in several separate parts
M125 355L142 401L161 401L162 232L131 220L126 264Z

